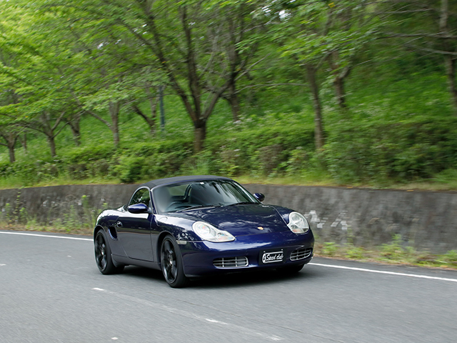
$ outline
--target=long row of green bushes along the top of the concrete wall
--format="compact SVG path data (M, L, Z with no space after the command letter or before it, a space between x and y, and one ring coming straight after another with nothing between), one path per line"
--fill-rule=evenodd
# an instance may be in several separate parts
M191 138L171 137L119 149L111 144L75 147L54 159L2 163L0 187L30 187L59 179L134 183L180 174L259 179L313 175L315 181L376 187L435 180L456 187L455 117L341 119L328 131L322 151L315 150L312 123L287 118L287 124L274 116L261 124L232 123L209 136L198 154L193 153Z

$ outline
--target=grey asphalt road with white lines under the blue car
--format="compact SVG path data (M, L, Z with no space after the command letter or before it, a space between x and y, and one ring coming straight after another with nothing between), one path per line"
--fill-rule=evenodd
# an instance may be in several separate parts
M0 232L0 342L457 342L455 271L315 258L171 289L100 274L91 237L30 234Z

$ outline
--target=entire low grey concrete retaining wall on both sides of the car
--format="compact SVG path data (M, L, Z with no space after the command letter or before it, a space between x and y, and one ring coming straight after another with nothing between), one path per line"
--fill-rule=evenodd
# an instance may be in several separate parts
M137 185L72 185L0 190L3 220L31 219L52 225L70 220L93 223L101 209L129 201ZM431 252L457 249L457 193L296 187L248 184L265 194L265 204L290 207L306 215L321 242L356 246L405 244ZM7 205L8 204L8 205Z

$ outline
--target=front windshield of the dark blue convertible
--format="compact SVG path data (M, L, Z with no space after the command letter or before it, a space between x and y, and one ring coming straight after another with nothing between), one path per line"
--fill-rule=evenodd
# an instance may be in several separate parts
M159 214L184 212L203 207L259 203L256 198L236 182L226 180L168 184L156 187L153 190L153 198Z

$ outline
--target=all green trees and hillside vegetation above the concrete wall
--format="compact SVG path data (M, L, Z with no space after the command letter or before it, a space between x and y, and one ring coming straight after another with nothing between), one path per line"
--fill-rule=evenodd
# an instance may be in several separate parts
M457 189L451 1L0 8L2 188L221 174Z

